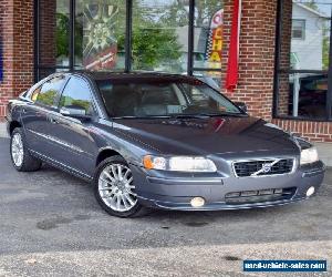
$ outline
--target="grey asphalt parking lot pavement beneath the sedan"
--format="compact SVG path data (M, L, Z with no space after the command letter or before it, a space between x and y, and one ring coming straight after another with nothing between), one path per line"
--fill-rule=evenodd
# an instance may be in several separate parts
M330 266L331 184L328 170L317 197L289 206L121 219L100 208L91 184L49 166L15 172L0 138L0 276L242 276L249 258Z

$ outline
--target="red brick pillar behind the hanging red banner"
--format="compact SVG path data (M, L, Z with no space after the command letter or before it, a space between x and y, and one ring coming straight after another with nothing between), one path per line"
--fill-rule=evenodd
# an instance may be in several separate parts
M225 0L224 80L232 2ZM246 102L249 113L266 120L270 120L272 114L276 13L277 1L242 1L239 84L234 94L224 90L232 100Z

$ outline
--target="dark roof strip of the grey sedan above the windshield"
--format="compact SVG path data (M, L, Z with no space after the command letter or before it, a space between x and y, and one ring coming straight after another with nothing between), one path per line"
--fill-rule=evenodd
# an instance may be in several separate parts
M135 81L135 80L155 80L155 81L198 81L194 76L170 74L163 72L106 72L106 71L72 71L72 74L85 75L95 81L114 80L114 81Z

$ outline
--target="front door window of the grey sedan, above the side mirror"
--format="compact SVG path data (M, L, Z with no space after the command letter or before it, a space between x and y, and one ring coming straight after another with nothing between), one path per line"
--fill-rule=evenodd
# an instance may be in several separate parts
M92 95L89 84L80 79L72 76L65 85L60 99L60 109L80 110L82 115L94 115Z

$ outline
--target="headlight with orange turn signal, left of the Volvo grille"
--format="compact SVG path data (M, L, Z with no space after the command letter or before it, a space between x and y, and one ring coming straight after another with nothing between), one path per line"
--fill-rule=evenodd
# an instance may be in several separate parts
M216 172L215 163L205 157L191 156L144 156L143 165L146 170L173 171L173 172Z

